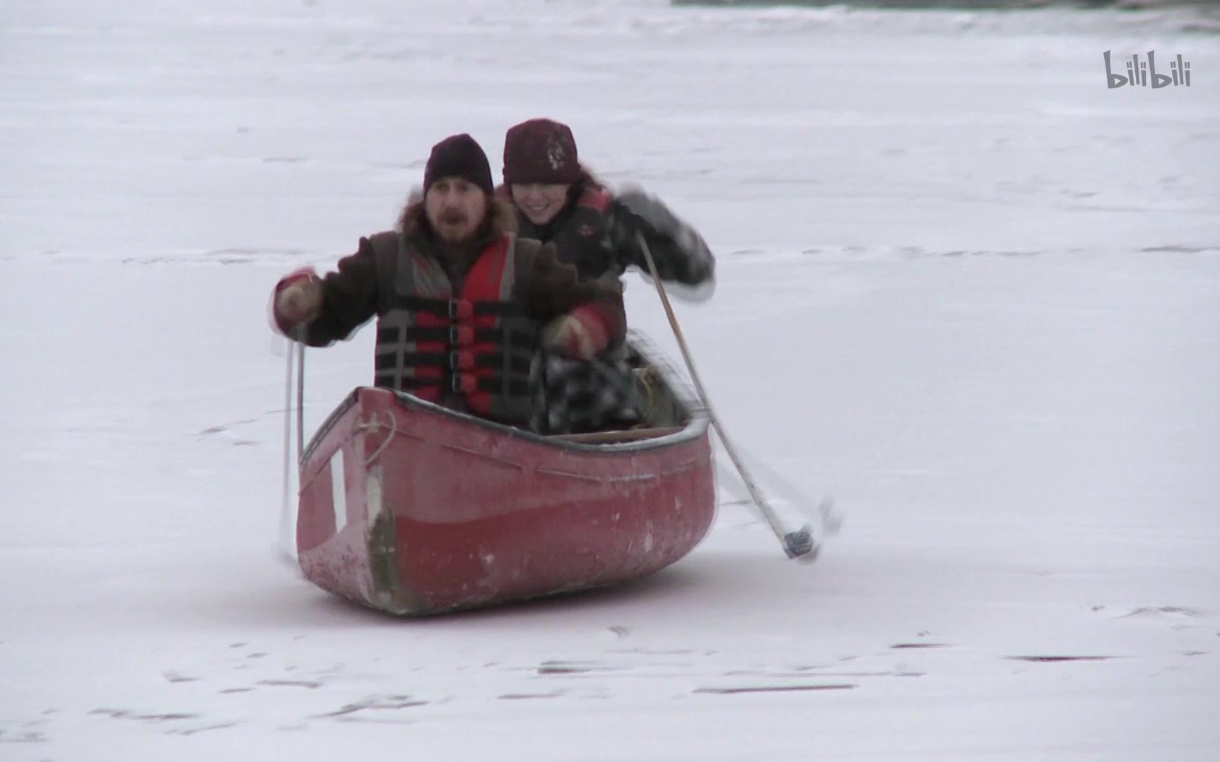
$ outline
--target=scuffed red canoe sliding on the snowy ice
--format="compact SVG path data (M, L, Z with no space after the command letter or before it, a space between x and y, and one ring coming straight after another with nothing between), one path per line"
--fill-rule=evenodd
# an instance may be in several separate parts
M301 460L305 577L422 616L622 583L688 554L715 513L709 419L632 346L648 428L539 436L355 389Z

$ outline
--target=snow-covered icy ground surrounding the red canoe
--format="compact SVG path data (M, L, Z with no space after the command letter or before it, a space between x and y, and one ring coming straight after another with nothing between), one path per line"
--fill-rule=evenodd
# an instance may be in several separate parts
M1187 11L0 5L0 760L1220 758L1220 37ZM1191 88L1108 90L1155 49ZM694 222L753 458L636 585L404 622L274 558L276 278L572 124ZM634 327L672 350L650 288ZM309 355L316 424L372 336ZM723 486L727 486L723 485Z

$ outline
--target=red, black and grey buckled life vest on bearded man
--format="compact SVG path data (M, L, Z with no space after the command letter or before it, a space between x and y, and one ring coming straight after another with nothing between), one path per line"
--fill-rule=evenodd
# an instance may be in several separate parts
M471 412L523 422L537 332L511 301L515 239L486 246L462 279L399 237L389 310L377 321L376 384L429 402L460 395Z

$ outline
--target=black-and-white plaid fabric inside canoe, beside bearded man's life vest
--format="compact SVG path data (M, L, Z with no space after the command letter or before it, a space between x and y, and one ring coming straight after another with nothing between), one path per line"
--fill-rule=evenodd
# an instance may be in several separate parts
M571 360L537 352L529 368L537 434L576 434L643 419L636 378L626 360Z

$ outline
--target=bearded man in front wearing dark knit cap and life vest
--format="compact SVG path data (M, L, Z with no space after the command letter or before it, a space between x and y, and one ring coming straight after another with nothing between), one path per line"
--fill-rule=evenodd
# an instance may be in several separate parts
M466 134L445 138L396 229L361 238L325 277L305 269L276 284L276 327L327 346L377 316L377 385L550 429L531 379L539 350L587 361L621 345L622 289L614 277L581 278L554 245L515 230L483 149Z

